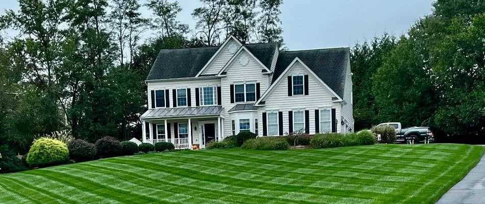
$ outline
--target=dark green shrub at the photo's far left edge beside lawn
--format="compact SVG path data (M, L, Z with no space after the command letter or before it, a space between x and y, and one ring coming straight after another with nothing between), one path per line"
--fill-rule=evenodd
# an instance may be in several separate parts
M17 158L15 151L7 145L0 146L0 173L13 173L27 170L22 161Z

